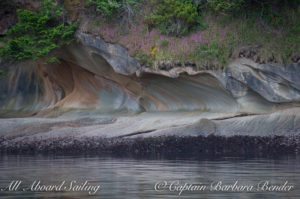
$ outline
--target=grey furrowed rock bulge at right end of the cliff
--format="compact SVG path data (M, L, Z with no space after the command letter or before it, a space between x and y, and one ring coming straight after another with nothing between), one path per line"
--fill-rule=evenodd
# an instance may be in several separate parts
M300 64L276 66L241 59L231 63L226 72L226 88L235 97L253 90L270 102L300 101Z

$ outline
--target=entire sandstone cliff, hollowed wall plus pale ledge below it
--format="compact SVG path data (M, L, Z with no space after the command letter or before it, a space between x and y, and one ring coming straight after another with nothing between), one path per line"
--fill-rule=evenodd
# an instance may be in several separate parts
M238 59L224 72L159 71L142 68L117 44L83 33L77 37L79 42L55 53L60 63L1 63L9 75L0 77L0 116L35 117L0 120L0 135L47 139L300 132L299 64Z

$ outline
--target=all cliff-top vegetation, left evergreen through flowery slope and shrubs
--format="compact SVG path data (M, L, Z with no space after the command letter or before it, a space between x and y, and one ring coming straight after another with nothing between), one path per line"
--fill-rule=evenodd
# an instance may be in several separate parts
M72 12L67 2L63 5ZM85 16L85 21L74 18L81 30L125 46L144 66L213 69L237 57L259 63L300 60L300 0L76 2L74 13ZM46 0L39 13L19 10L19 22L0 47L2 59L38 59L71 42L76 23L67 24L59 5Z

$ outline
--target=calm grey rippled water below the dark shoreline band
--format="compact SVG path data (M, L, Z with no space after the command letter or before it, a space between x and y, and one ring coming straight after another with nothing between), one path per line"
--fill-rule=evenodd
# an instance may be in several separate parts
M0 156L0 188L7 188L13 180L22 181L16 191L2 190L0 198L300 198L300 158L241 159L222 158L218 160L166 160L131 159L86 156ZM100 185L95 195L86 191L61 190L60 192L39 192L30 190L33 182L40 185L63 186L82 185L88 180L90 187ZM223 185L257 185L260 181L270 184L289 184L295 187L289 192L222 192L210 191L212 182ZM173 182L170 188L155 191L157 182ZM206 184L207 190L174 191L176 183ZM78 186L77 186L78 187ZM82 185L82 187L86 187ZM170 186L169 186L170 187ZM177 186L178 187L178 186ZM23 191L24 188L24 191ZM256 187L255 187L256 188ZM158 189L158 188L157 188Z

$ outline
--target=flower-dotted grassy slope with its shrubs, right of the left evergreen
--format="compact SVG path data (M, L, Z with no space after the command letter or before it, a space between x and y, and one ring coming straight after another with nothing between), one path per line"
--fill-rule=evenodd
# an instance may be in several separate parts
M87 31L126 46L149 67L223 68L237 57L290 64L300 59L299 5L299 0L154 0L141 5L129 26L96 18ZM193 14L185 15L187 10Z

